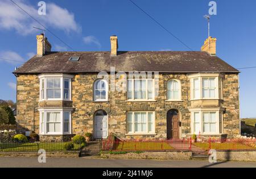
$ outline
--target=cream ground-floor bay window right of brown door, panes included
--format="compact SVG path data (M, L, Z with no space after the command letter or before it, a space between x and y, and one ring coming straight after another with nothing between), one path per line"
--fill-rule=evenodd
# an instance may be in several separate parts
M221 110L195 110L191 112L191 133L200 134L222 134Z

